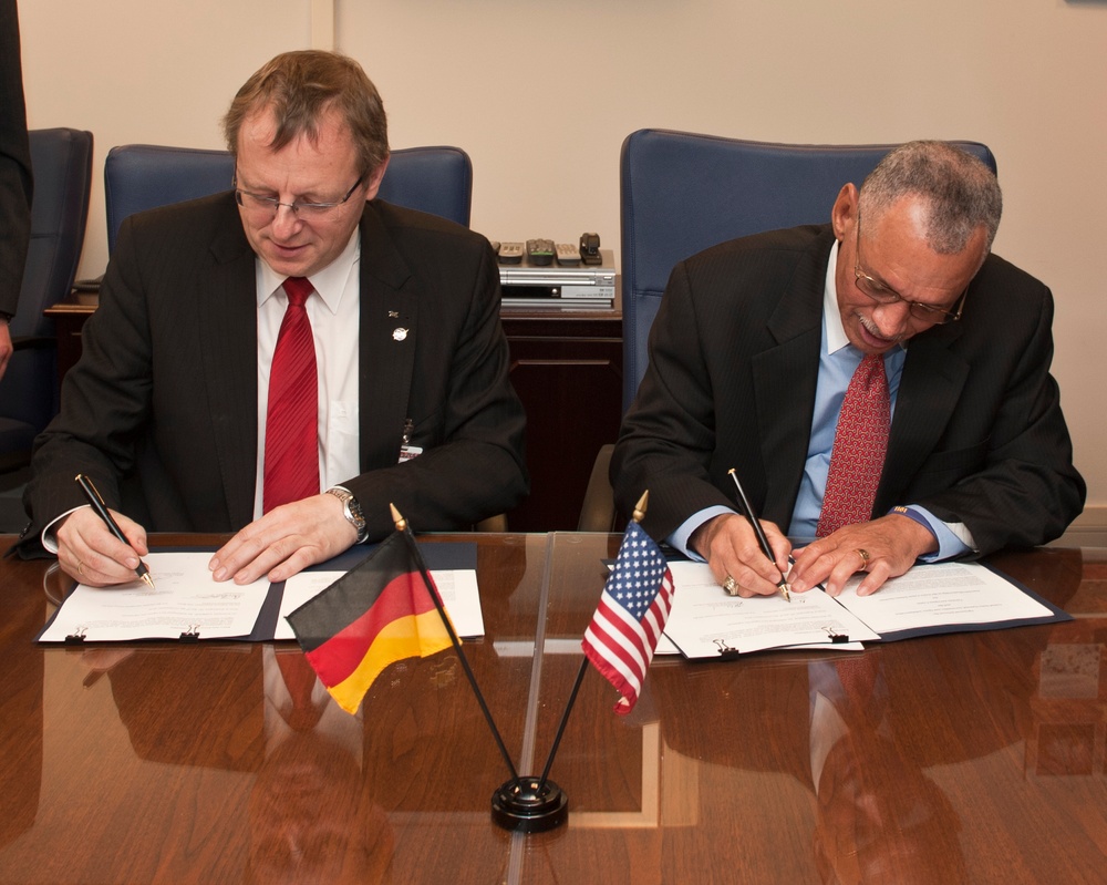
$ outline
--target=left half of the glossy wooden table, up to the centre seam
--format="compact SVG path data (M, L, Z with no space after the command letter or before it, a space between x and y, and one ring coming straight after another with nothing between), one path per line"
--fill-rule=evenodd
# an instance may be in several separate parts
M486 626L467 656L518 758L548 541L464 539ZM294 644L44 649L46 570L0 560L0 883L505 881L489 803L508 773L454 652L286 735L266 679Z

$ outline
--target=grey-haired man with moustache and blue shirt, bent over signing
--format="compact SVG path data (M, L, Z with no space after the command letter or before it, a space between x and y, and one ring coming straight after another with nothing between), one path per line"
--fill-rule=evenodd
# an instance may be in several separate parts
M837 594L857 572L865 595L919 560L1059 536L1085 485L1053 298L991 255L1001 208L983 163L912 142L845 185L829 225L677 265L612 459L620 510L649 488L644 527L741 596L780 574Z

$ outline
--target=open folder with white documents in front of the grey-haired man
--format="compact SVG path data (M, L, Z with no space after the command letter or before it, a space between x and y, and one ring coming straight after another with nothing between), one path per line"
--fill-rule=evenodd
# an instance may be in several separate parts
M672 562L675 594L665 635L689 658L796 646L887 642L915 636L1055 624L1072 616L979 563L918 565L871 596L820 589L743 599L727 596L705 564Z

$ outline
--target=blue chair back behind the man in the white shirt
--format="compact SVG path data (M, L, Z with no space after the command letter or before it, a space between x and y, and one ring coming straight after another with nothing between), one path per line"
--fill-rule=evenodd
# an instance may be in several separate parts
M128 215L229 191L234 175L235 161L227 151L152 144L113 147L104 163L108 251ZM457 147L393 151L377 196L468 227L473 165Z

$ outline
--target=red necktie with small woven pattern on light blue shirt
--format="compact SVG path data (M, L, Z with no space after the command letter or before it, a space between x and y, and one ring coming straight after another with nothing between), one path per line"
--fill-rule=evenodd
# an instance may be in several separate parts
M879 353L869 353L853 372L841 403L823 513L815 532L818 537L872 518L890 423L884 360Z

